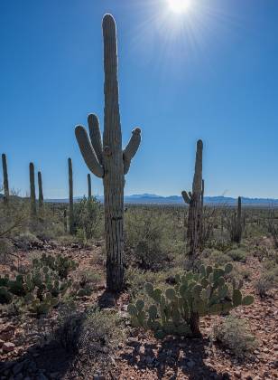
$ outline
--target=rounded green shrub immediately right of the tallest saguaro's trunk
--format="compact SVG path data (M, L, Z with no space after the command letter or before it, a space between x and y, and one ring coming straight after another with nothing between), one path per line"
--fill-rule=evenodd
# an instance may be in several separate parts
M167 223L155 214L133 214L125 220L125 261L136 261L143 269L157 270L169 260Z

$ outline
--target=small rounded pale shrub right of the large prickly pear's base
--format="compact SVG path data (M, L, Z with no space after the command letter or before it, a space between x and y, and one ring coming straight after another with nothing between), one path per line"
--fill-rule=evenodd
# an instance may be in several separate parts
M233 316L228 316L214 327L214 337L238 358L250 356L257 346L246 320Z

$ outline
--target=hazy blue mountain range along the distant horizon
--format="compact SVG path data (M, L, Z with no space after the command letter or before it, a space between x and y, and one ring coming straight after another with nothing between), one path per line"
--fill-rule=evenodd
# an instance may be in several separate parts
M82 197L74 198L75 202L79 202ZM97 196L100 202L103 202L103 195ZM242 204L257 206L278 206L278 199L272 198L247 198L242 197ZM68 203L68 199L46 199L46 202ZM204 203L211 205L235 205L237 198L228 196L205 196ZM125 204L184 204L180 195L162 196L155 194L137 194L125 195Z

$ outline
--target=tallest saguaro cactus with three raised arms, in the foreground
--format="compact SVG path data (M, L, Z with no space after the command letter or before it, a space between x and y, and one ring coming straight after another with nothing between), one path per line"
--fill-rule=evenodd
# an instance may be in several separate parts
M102 23L104 38L105 117L101 139L96 115L88 116L89 136L83 127L76 128L82 156L91 172L103 178L105 230L107 248L107 290L123 288L124 186L130 162L141 141L141 129L134 128L132 137L122 149L122 132L118 101L116 23L106 14Z

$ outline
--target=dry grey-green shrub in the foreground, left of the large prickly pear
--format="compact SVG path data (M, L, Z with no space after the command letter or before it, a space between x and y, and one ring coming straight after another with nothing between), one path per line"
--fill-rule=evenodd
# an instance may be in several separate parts
M93 308L79 312L67 306L60 310L52 336L62 347L82 356L82 365L87 364L90 371L107 373L125 329L114 311Z

